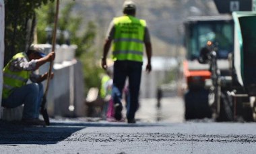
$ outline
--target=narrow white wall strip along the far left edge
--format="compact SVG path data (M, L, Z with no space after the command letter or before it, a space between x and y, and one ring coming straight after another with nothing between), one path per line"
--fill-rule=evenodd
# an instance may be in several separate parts
M5 34L5 3L0 0L0 106L2 101L2 90L3 90L3 58L5 53L4 48L4 34ZM0 110L0 119L2 116L2 110Z

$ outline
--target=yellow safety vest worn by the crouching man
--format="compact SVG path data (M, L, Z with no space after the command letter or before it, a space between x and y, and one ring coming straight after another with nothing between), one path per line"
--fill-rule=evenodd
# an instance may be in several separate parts
M27 58L24 52L15 54L9 63L3 68L3 98L7 98L15 88L20 88L21 86L26 85L30 77L31 71L17 71L13 72L9 70L11 62L17 58Z

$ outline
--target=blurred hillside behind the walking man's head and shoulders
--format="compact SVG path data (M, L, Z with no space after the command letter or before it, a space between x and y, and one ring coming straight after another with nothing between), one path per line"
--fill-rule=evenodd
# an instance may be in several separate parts
M191 15L216 15L212 0L134 0L137 17L146 19L155 56L175 56L183 44L183 21ZM61 5L70 0L61 1ZM122 15L123 0L75 0L74 15L82 14L84 24L94 21L98 27L98 46L102 46L108 23Z

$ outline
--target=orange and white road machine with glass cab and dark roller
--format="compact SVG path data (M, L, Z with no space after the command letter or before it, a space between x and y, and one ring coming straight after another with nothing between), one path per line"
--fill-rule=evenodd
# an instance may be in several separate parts
M215 105L210 64L199 62L200 51L207 42L218 47L216 63L221 76L230 76L228 57L233 52L234 21L230 15L189 17L185 21L186 60L183 63L187 82L185 92L185 119L211 118L211 106ZM211 82L210 82L211 83ZM212 96L212 97L211 97Z

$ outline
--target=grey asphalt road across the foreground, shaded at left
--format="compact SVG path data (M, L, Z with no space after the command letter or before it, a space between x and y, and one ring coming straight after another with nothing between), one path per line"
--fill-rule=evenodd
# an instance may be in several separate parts
M147 106L147 110L146 107ZM155 108L155 109L154 109ZM151 111L150 111L151 110ZM255 153L255 123L184 121L183 101L141 100L137 123L51 119L48 127L0 123L0 153ZM175 114L174 114L175 113Z

